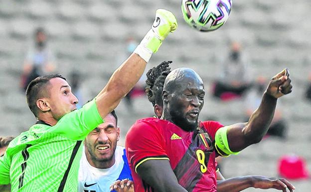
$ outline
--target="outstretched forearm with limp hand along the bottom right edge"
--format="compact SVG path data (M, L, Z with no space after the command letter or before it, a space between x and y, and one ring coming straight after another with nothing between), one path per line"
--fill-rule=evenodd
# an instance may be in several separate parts
M217 192L240 192L247 188L277 189L286 192L286 188L293 192L295 187L285 179L272 179L264 176L244 176L223 181L217 181Z

